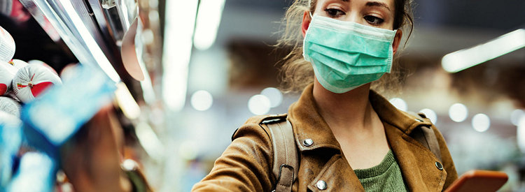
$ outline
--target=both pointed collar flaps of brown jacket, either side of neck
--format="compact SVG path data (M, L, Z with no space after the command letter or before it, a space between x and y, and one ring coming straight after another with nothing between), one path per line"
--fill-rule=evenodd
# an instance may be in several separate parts
M339 142L318 112L312 92L313 88L314 85L309 84L302 92L299 100L288 108L288 119L293 126L297 147L301 152L319 148L335 149L340 152ZM381 121L391 124L407 135L418 126L431 125L428 119L416 118L407 112L398 110L386 98L373 90L370 90L369 99L372 108L377 112ZM313 144L304 145L305 140L311 140Z

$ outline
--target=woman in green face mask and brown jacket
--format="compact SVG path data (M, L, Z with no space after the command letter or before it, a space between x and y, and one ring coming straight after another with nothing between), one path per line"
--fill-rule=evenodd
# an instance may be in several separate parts
M412 27L410 1L295 0L285 22L280 45L295 49L283 66L283 82L291 89L305 87L287 117L300 159L293 191L447 189L457 173L437 128L370 89L371 82L391 72L401 28ZM303 39L294 41L296 31ZM381 79L387 76L393 77ZM193 191L275 189L272 141L260 119L249 119L234 133ZM412 137L422 126L437 135L440 154Z

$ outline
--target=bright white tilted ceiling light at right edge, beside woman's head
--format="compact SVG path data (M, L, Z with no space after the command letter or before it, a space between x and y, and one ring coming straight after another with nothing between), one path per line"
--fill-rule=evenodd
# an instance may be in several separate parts
M456 73L525 47L525 29L518 29L482 45L452 52L443 57L445 71Z

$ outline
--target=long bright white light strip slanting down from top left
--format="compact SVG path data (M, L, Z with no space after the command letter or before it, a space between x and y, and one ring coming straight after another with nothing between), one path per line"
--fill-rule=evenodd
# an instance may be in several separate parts
M108 75L114 82L120 82L120 76L118 76L118 73L115 71L115 68L111 66L111 63L109 62L108 58L106 58L104 52L102 52L99 45L94 40L93 36L91 36L90 31L87 30L87 28L85 27L84 22L76 13L75 8L73 8L73 4L71 4L71 1L59 1L60 3L62 3L62 6L64 6L64 10L66 10L67 15L69 15L69 18L71 18L71 21L75 24L78 33L87 45L87 49L90 50L92 57L95 61L97 61L97 64L99 64L100 68L102 68L102 71L104 71L104 73L106 73L106 75Z

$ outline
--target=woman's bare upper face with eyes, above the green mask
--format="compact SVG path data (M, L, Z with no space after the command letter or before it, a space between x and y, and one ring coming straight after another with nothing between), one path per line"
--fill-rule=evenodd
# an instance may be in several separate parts
M313 14L393 30L394 4L393 0L318 0Z

